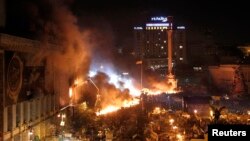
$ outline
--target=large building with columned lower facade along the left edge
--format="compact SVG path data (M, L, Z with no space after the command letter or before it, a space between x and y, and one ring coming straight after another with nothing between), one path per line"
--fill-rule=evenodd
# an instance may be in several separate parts
M0 141L45 139L54 132L60 93L48 61L34 63L41 43L0 34ZM49 86L52 85L52 88Z

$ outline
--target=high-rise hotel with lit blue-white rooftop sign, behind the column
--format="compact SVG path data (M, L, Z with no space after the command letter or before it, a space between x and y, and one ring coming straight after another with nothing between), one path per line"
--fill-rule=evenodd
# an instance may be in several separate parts
M184 26L174 26L173 17L151 17L145 26L134 27L135 54L145 70L166 74L168 60L167 30L173 30L172 65L187 63Z

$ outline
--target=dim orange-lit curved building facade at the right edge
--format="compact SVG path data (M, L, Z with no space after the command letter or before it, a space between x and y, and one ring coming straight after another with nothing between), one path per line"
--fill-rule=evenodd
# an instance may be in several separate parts
M237 96L250 90L249 65L209 66L209 74L214 85L224 94Z

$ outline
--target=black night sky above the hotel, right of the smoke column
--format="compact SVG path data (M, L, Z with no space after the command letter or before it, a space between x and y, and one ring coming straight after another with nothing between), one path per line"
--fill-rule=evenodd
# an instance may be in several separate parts
M246 2L211 2L210 0L76 0L72 10L81 19L102 19L114 30L129 36L137 23L150 16L172 15L174 22L190 31L209 32L215 42L250 43L250 12ZM95 21L94 20L94 21ZM81 22L80 22L81 23ZM82 22L84 25L84 22ZM86 24L86 23L85 23Z

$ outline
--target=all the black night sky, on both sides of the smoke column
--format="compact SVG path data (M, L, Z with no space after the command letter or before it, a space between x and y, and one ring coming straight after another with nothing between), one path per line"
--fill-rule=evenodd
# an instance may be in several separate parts
M40 15L49 15L46 1L9 0L9 29L29 28L30 5L37 5ZM246 2L176 1L176 0L65 0L78 18L82 28L109 27L117 39L133 36L133 26L144 25L151 16L174 16L176 25L186 26L189 38L192 32L209 34L216 43L242 45L250 43L250 12ZM13 3L16 3L12 5ZM29 10L27 10L29 9ZM26 13L25 13L26 12ZM32 19L33 21L30 21ZM19 23L19 24L17 24ZM23 31L23 30L21 30Z

